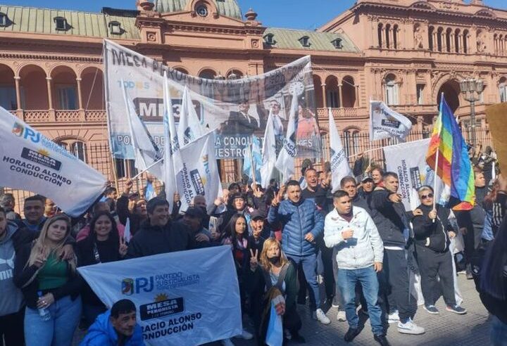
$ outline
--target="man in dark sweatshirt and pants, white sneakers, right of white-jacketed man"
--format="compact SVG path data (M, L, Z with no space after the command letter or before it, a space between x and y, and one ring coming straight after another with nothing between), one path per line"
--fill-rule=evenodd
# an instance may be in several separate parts
M423 334L425 329L413 322L406 253L410 232L398 194L398 174L387 172L382 181L384 187L375 188L370 202L373 221L384 243L384 270L379 276L382 307L389 321L398 321L399 333Z

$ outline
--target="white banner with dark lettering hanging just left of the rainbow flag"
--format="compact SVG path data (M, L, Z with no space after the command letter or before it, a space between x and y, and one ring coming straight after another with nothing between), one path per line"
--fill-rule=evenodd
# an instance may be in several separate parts
M420 205L418 188L429 185L433 188L434 171L426 163L430 139L396 144L384 148L386 168L399 177L399 190L405 210L414 210ZM445 205L449 199L449 189L437 177L437 203Z

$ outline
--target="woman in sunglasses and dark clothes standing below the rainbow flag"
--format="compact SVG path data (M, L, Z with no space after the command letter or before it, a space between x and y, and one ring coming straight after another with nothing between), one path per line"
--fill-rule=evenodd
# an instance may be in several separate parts
M440 284L446 310L455 314L465 314L466 310L456 304L454 295L449 237L452 238L456 234L453 233L449 224L449 209L438 204L433 207L434 193L430 186L422 186L418 193L421 204L413 212L412 225L415 236L415 255L425 299L424 308L430 314L439 314L435 302L439 297Z

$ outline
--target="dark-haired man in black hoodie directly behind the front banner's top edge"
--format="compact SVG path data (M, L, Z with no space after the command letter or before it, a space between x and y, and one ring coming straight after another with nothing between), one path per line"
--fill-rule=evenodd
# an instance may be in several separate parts
M152 198L147 203L146 210L148 219L131 239L126 258L195 248L194 238L188 227L170 220L167 200Z

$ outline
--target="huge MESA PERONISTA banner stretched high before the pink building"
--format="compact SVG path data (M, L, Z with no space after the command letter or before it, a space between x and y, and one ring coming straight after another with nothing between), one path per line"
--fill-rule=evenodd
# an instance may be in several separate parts
M111 150L116 158L134 158L122 84L152 138L159 148L163 147L164 72L169 79L176 124L187 87L187 97L192 100L204 132L216 129L216 158L244 158L252 134L263 136L270 108L277 120L273 123L275 133L284 133L294 94L298 98L300 124L296 134L298 156L320 158L322 146L310 56L253 77L218 78L207 70L201 72L201 78L104 40L104 65Z

